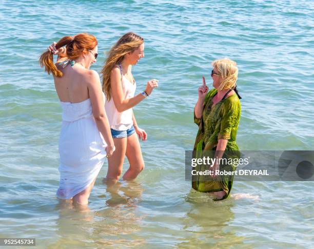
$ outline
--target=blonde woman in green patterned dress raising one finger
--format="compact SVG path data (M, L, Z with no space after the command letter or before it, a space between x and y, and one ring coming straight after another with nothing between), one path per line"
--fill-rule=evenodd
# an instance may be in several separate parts
M198 89L199 99L194 107L194 122L199 125L199 131L193 151L196 157L212 155L216 160L210 168L204 165L197 167L197 171L209 169L212 175L192 176L192 187L212 194L215 200L222 200L230 195L233 175L221 176L216 170L234 171L233 164L226 164L226 161L220 159L240 156L235 137L241 116L241 97L236 88L237 64L229 59L221 59L213 61L212 66L214 88L208 92L203 77L203 85Z

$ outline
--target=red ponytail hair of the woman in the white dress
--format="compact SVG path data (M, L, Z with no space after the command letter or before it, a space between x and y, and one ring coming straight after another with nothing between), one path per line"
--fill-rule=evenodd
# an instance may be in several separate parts
M66 46L67 58L75 60L84 52L92 50L97 46L97 39L92 34L80 33L74 36L64 36L57 42L55 48ZM56 77L62 77L63 73L56 68L53 63L53 54L50 51L44 52L40 57L41 67L45 67L45 71L52 73Z

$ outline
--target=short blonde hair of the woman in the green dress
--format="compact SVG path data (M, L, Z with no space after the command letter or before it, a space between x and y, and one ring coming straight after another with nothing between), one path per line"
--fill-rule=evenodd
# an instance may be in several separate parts
M217 89L218 91L233 89L236 86L238 80L238 67L237 63L228 59L219 59L211 63L216 68L222 77L222 82Z

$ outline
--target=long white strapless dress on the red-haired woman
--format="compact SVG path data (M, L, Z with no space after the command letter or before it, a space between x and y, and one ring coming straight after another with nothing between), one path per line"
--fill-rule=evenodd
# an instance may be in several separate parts
M56 196L70 199L97 177L106 158L107 144L96 126L90 99L61 102L61 106L60 186Z

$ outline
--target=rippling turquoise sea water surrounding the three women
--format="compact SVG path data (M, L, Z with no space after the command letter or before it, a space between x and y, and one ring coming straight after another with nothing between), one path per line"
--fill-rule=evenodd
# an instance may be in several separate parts
M309 248L313 182L237 182L231 198L190 193L184 153L197 132L193 106L210 62L239 66L242 150L314 147L314 4L311 1L0 2L0 237L36 238L38 248ZM58 187L61 106L38 56L78 32L105 51L124 33L145 39L133 67L134 108L148 133L145 169L134 182L93 188L88 209L62 205ZM124 170L127 168L125 163Z

